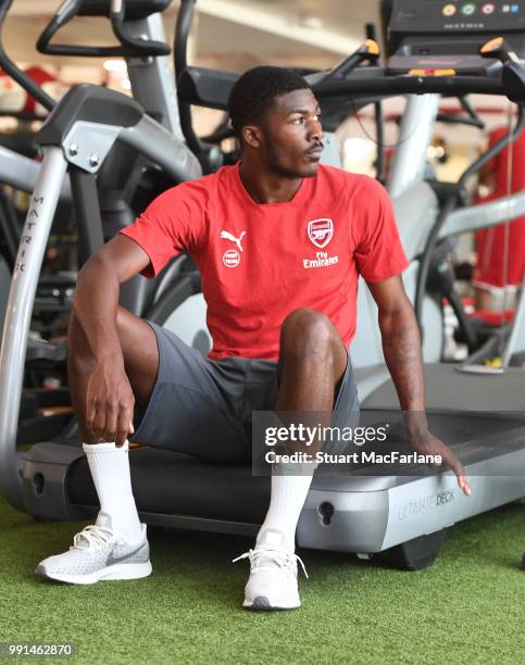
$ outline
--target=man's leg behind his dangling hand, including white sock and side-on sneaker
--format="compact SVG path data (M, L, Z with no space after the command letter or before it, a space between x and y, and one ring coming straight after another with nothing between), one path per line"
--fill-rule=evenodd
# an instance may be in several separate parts
M118 309L117 330L126 375L137 404L145 409L157 381L159 352L151 327ZM76 584L99 579L126 579L149 575L149 545L132 491L128 444L97 437L86 425L86 394L95 359L74 314L68 329L68 378L73 406L83 435L84 450L100 501L95 527L75 537L68 552L42 561L37 573ZM118 562L118 563L117 563Z

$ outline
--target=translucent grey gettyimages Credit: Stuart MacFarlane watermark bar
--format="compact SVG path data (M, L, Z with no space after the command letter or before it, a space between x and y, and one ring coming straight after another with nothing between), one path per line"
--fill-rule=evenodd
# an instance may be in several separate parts
M445 449L443 449L445 446ZM345 413L255 411L252 473L422 476L449 469L450 451L468 475L524 477L525 413L366 410ZM487 460L498 462L488 465ZM445 456L445 455L443 455ZM308 472L310 473L310 472Z

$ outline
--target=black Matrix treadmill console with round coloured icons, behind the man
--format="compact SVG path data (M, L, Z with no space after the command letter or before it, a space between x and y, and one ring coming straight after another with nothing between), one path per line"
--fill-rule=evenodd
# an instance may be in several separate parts
M491 75L501 64L479 49L495 37L525 55L525 0L393 0L388 71Z

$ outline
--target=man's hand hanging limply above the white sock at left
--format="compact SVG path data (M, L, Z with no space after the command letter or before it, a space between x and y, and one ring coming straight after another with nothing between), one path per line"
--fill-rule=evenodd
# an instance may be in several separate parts
M86 424L97 437L123 446L133 434L135 397L122 360L98 361L87 386Z

